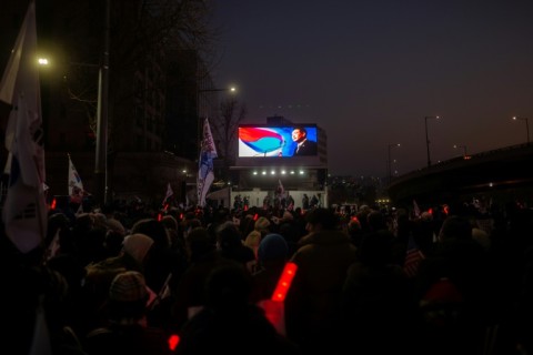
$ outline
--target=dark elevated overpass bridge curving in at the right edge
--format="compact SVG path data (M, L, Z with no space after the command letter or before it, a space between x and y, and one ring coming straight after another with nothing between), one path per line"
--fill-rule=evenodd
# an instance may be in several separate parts
M484 196L533 206L533 144L454 158L398 176L388 186L393 205L455 204Z

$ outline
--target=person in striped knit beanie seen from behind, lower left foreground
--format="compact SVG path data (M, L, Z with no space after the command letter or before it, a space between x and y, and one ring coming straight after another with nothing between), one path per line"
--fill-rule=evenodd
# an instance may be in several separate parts
M149 290L137 271L119 273L112 281L105 303L105 326L89 332L84 349L89 355L171 354L161 328L147 326Z

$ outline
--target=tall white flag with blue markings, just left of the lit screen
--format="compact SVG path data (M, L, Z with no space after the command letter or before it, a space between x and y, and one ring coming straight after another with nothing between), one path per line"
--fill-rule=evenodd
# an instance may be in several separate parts
M205 205L205 195L214 181L213 159L217 158L217 148L214 146L213 135L209 121L203 122L203 139L200 149L199 169L198 169L198 205Z

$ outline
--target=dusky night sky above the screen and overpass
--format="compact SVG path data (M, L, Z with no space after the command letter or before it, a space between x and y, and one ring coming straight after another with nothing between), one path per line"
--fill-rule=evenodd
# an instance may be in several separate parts
M531 0L217 1L219 87L247 123L283 115L328 133L331 174L402 175L525 143L533 125ZM533 126L532 126L533 130ZM532 131L533 138L533 131Z

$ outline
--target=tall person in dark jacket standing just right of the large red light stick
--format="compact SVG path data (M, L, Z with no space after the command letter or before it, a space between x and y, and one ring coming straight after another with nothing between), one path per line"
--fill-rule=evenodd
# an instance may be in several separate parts
M304 353L335 353L341 290L346 271L358 258L358 248L340 227L332 209L305 213L308 235L299 240L291 256L298 271L285 298L286 335Z

